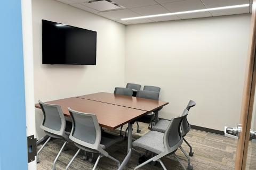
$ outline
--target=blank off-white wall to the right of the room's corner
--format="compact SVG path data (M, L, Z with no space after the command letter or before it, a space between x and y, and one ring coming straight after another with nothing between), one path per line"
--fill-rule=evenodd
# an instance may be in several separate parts
M221 16L126 27L125 82L161 87L169 105L160 117L182 113L189 121L222 130L241 113L250 15Z

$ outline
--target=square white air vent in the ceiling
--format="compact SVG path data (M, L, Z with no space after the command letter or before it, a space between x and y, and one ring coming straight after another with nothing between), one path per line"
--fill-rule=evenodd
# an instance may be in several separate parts
M119 10L124 8L117 3L110 1L110 0L92 0L86 2L86 6L93 8L97 11L112 11L112 10Z

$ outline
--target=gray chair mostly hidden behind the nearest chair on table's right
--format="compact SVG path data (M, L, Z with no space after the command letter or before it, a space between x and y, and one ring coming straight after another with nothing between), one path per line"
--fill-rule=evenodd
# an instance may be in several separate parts
M194 107L196 105L195 101L193 100L190 100L186 109L189 111L189 109L191 107ZM169 125L170 121L169 120L159 120L157 122L157 124L154 126L154 128L152 128L153 131L158 131L158 132L162 132L164 133L167 129L167 126ZM191 129L191 126L190 124L188 123L188 120L187 118L185 118L185 120L182 121L182 124L181 124L181 130L182 130L182 137L183 137L183 140L187 143L187 145L189 146L190 148L190 151L189 151L189 156L193 156L194 155L194 152L193 152L193 149L192 147L189 145L188 141L184 138L186 136L186 134L190 131Z

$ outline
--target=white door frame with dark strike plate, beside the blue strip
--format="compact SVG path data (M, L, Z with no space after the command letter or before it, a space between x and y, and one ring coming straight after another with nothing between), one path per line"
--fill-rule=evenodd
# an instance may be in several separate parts
M35 97L34 97L34 58L33 58L33 18L32 1L21 0L22 40L26 101L26 132L27 137L36 138ZM36 169L36 158L28 163L28 169Z

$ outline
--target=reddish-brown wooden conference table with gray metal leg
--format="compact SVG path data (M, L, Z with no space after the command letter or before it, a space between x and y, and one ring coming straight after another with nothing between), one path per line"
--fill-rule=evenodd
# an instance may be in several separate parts
M79 112L93 113L97 116L100 126L110 130L128 123L127 155L118 169L123 169L131 158L132 124L134 121L138 117L157 111L168 104L159 100L115 95L107 92L47 101L46 103L60 105L63 114L67 117L70 117L68 107ZM36 104L35 107L41 108L39 104Z

